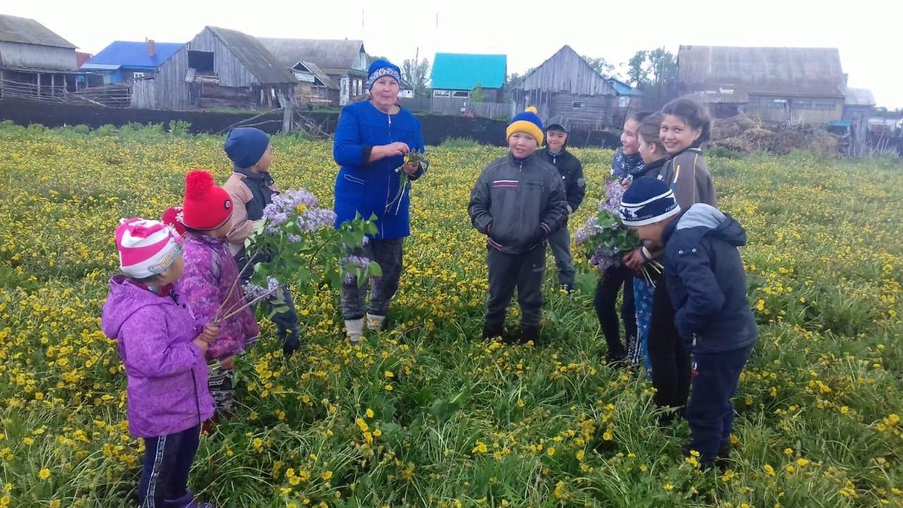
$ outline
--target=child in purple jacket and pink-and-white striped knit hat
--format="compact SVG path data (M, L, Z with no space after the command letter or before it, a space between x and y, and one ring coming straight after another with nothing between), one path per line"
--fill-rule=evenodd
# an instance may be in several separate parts
M129 430L144 438L143 507L212 507L194 501L188 474L200 425L213 415L204 353L219 329L195 321L172 292L182 276L181 240L158 221L123 221L116 229L122 275L110 280L101 315L126 366Z

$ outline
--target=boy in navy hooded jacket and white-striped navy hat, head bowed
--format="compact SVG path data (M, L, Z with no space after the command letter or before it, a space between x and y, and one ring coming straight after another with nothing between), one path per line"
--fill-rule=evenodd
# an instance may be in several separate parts
M685 416L703 466L726 458L740 372L759 338L737 249L746 230L704 203L681 213L665 182L640 178L624 193L620 215L641 240L665 249L675 327L692 354L693 395Z

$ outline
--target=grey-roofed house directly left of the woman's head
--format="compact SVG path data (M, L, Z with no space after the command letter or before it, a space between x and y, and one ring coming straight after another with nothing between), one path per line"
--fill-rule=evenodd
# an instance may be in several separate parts
M326 98L333 105L344 106L368 92L367 71L370 63L363 41L271 37L261 37L259 40L285 68L293 72L303 68L301 74L295 74L299 76L299 81L314 80L311 102L321 102ZM318 81L321 84L317 84ZM302 102L307 97L306 88L302 87L302 95L299 96Z

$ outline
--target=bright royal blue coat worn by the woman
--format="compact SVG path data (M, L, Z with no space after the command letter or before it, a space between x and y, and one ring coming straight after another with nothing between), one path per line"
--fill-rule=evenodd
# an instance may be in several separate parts
M372 163L368 160L374 146L396 141L406 143L412 150L424 151L420 120L407 109L386 115L368 101L342 108L332 146L332 157L341 166L333 204L337 228L344 221L353 221L356 213L364 219L376 214L377 238L392 240L411 233L410 185L400 189L401 173L396 171L405 164L405 157L386 157ZM423 168L408 179L415 180L421 174Z

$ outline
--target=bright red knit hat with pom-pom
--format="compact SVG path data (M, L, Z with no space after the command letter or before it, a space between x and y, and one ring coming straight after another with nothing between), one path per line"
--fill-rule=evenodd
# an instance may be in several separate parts
M216 230L232 217L232 200L213 175L194 170L185 175L182 224L192 230Z

